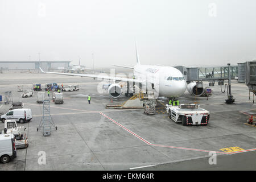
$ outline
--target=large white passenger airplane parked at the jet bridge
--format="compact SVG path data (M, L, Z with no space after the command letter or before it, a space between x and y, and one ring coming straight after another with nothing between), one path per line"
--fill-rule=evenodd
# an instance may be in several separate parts
M134 67L126 67L119 65L118 67L133 69L133 78L117 77L117 76L103 76L103 75L90 75L90 74L76 74L76 73L59 73L59 72L44 72L56 75L67 75L67 76L80 76L80 77L91 77L101 78L104 80L114 81L109 85L108 92L110 97L119 98L122 95L122 86L116 82L130 82L139 83L141 86L150 85L154 92L158 93L158 97L167 97L169 100L175 100L175 98L184 94L187 89L187 82L183 74L176 68L170 66L159 66L159 65L142 65L139 59L137 44L136 56L137 64ZM116 65L117 66L117 65Z

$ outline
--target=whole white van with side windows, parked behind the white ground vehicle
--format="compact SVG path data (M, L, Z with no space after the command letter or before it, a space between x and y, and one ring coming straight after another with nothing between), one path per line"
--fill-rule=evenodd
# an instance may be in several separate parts
M14 109L8 113L1 115L1 121L4 123L6 119L15 119L16 122L24 123L32 119L31 109Z

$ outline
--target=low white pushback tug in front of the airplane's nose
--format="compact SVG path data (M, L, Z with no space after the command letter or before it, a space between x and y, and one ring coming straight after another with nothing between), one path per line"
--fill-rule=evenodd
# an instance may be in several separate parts
M184 126L207 125L210 118L210 112L202 109L199 104L166 104L166 111L172 121L181 122Z

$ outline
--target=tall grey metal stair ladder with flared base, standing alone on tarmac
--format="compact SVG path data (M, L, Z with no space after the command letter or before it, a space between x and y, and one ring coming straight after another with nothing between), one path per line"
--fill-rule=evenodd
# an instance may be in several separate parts
M44 136L49 136L49 135L51 135L51 131L54 129L57 130L57 126L55 126L55 124L51 118L50 101L44 100L43 101L43 116L42 116L40 124L37 128L37 131L41 130L41 131L43 131Z

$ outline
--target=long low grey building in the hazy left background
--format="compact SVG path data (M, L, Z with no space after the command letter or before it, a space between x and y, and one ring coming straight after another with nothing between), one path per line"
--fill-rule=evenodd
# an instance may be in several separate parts
M44 71L68 68L71 61L0 61L1 70L33 70L41 67Z

